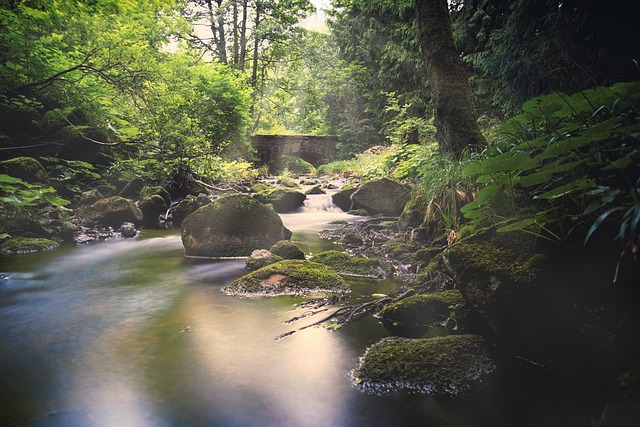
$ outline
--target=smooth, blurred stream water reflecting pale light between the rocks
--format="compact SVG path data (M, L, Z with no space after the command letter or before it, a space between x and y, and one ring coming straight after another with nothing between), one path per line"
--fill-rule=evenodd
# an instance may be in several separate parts
M328 221L354 219L328 195L282 218L308 253L333 247L317 237ZM177 230L0 263L0 425L492 425L483 399L355 388L349 371L388 335L372 317L277 341L304 324L286 323L302 298L224 295L244 260L187 259ZM350 298L397 285L353 282Z

